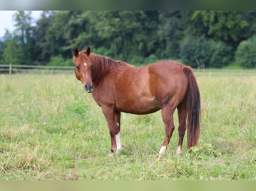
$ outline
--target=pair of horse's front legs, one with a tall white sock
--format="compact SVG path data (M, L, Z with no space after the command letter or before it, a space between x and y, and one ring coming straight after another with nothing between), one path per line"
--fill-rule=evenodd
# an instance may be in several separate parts
M107 120L111 136L111 152L109 156L113 156L114 150L116 150L116 153L120 153L122 149L120 141L121 112L115 112L114 109L110 107L102 107L102 112Z

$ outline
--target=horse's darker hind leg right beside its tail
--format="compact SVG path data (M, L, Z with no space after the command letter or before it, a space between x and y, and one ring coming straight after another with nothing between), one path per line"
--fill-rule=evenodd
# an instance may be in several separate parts
M178 118L179 118L179 142L178 142L178 148L177 153L181 154L181 147L183 138L186 131L186 118L187 118L187 100L183 99L182 102L177 106L178 110Z

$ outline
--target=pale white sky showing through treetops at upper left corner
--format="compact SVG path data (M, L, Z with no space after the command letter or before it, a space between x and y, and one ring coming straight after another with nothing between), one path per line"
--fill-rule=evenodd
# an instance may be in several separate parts
M17 11L0 11L0 37L3 37L5 34L5 29L8 29L9 32L15 30L15 22L12 19L12 16ZM41 17L42 11L32 11L31 17L34 20L34 23Z

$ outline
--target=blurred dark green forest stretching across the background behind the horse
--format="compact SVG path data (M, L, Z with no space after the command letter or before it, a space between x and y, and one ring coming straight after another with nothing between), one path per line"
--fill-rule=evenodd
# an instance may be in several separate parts
M256 67L256 11L31 11L13 15L0 64L73 66L73 50L146 65L178 60L197 68Z

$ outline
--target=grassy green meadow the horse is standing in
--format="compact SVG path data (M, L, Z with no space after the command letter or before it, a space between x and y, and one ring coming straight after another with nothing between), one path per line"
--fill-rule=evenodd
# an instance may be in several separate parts
M119 155L101 108L72 76L0 75L0 180L255 180L256 75L196 72L201 91L199 144L176 154L161 112L121 115Z

